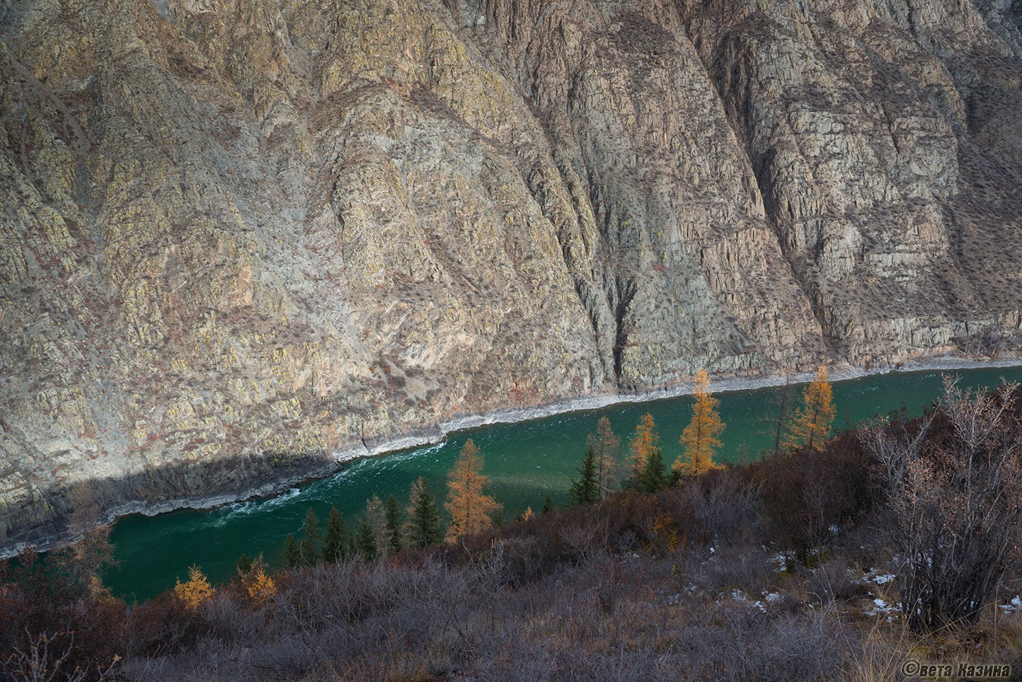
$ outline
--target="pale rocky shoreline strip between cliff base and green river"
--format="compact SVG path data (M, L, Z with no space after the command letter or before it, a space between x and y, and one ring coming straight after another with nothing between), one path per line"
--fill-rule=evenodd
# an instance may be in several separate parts
M905 362L899 366L890 367L879 367L871 369L862 369L853 367L837 367L831 368L829 370L829 379L832 382L848 381L851 379L861 379L863 377L869 377L879 374L893 374L893 373L915 373L915 372L935 372L940 370L982 370L991 368L1012 368L1022 366L1022 357L1011 357L1004 359L981 359L981 358L964 358L955 356L941 356L927 358L924 360L919 360L916 362ZM790 381L792 384L800 384L808 382L812 379L811 372L800 372L788 376L784 375L769 375L763 377L725 377L714 380L710 388L714 393L727 393L733 391L751 391L760 388L769 388L772 386L781 386L785 381ZM325 464L321 467L314 468L307 473L298 476L289 477L280 481L268 482L263 485L250 488L238 494L221 493L217 495L211 495L207 497L188 497L183 499L175 500L162 500L153 503L144 503L140 501L133 501L126 504L122 504L112 507L103 516L102 523L112 524L118 520L132 516L135 514L140 514L147 517L153 517L160 514L167 514L170 512L175 512L178 509L213 509L226 504L233 504L236 502L242 502L250 499L257 498L268 498L275 497L288 489L308 483L311 481L319 480L332 476L339 473L342 470L342 465L346 461L358 459L361 457L371 457L380 456L400 450L405 450L412 447L421 447L426 445L435 445L443 442L452 433L457 431L464 431L467 429L475 429L481 426L486 426L490 424L509 424L516 422L526 422L529 420L544 419L547 417L553 417L554 415L560 415L565 412L573 411L584 411L588 409L600 409L602 407L607 407L614 404L621 404L626 402L647 402L651 400L661 400L664 398L673 398L683 395L689 395L692 392L692 382L684 382L677 386L666 387L663 389L657 389L653 391L645 391L637 394L626 394L626 393L616 393L613 395L605 396L590 396L584 398L576 398L572 400L558 401L550 403L547 405L526 407L526 408L512 408L512 409L501 409L489 415L473 415L467 417L459 417L454 420L449 420L440 424L435 430L426 432L423 435L417 436L403 436L401 438L392 438L385 440L383 442L373 444L373 445L359 445L344 448L334 453L333 460ZM13 556L27 546L31 545L33 548L38 550L47 550L60 546L65 546L69 542L77 538L73 537L54 537L47 540L42 540L33 543L18 543L9 547L0 548L0 558L6 558Z

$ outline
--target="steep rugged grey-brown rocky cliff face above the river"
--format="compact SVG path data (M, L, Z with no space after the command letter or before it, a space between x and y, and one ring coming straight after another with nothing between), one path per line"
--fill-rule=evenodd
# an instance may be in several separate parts
M0 22L7 542L700 367L1018 347L1019 0Z

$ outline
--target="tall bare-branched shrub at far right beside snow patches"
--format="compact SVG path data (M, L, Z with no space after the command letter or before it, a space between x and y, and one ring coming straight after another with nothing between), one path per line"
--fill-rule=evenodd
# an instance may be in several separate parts
M945 378L942 404L921 423L866 436L884 467L901 552L901 604L917 632L974 622L1017 551L1016 389L971 393Z

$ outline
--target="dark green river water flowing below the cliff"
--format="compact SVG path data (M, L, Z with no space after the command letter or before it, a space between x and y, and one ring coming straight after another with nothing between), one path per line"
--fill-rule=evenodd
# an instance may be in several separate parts
M1022 382L1022 368L956 371L966 386L993 386L1004 377ZM940 393L939 372L876 375L834 384L838 410L835 426L856 424L876 415L887 415L902 404L913 413ZM734 461L742 446L750 453L770 447L761 419L769 417L773 396L781 389L719 393L721 417L727 424L719 459ZM242 553L261 552L272 566L280 566L281 543L288 533L297 534L306 509L312 506L320 519L336 505L354 527L357 515L373 494L393 494L407 503L412 482L419 476L429 480L438 497L445 494L447 472L468 438L475 440L485 457L484 472L491 494L504 503L504 517L511 519L531 505L543 506L547 495L565 503L575 468L585 454L586 434L595 431L597 420L606 415L622 440L634 433L640 417L649 411L656 422L664 459L669 464L680 452L682 429L692 410L688 396L640 403L622 403L600 409L496 424L451 434L433 446L404 450L347 464L328 479L272 498L239 502L206 512L179 510L156 517L122 519L113 530L120 568L111 569L104 582L117 594L139 600L155 596L185 578L188 567L199 565L211 580L230 579L233 565Z

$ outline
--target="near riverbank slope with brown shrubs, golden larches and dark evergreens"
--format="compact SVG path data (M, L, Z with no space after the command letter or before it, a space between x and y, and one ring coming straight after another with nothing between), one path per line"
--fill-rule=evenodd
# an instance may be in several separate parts
M142 604L93 579L96 531L5 569L4 674L894 680L907 660L1022 665L1018 389L948 383L922 418L831 436L825 383L757 461L670 476L649 418L614 490L602 467L620 443L601 422L575 504L497 524L469 450L444 505L466 520L449 541L420 479L405 509L369 500L355 533L339 513L325 533L311 515L289 569L244 557L212 586L196 567Z

